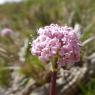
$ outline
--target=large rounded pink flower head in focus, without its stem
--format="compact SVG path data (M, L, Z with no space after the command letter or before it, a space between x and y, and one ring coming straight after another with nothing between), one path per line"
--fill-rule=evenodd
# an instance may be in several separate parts
M37 39L32 42L31 53L41 61L48 62L55 55L58 56L59 65L80 60L80 42L71 27L51 24L40 28L38 34Z

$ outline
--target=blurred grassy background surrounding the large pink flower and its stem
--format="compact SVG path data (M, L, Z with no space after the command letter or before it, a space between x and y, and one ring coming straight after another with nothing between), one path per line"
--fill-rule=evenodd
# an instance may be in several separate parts
M94 0L0 0L0 95L48 95L50 69L30 52L37 29L76 29L81 60L58 72L57 95L95 95Z

